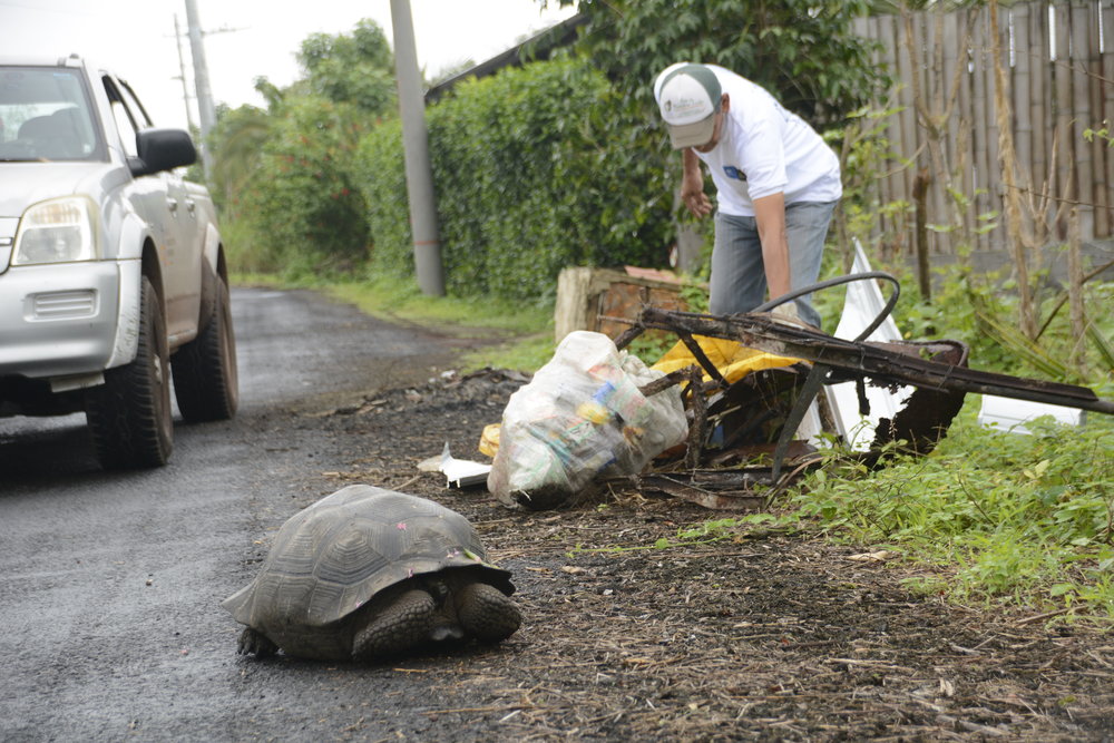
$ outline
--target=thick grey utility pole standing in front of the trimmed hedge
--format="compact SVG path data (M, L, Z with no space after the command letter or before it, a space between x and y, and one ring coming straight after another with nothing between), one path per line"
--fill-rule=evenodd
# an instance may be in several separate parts
M399 84L410 228L414 241L414 273L422 294L444 296L444 267L438 236L433 173L429 163L426 100L418 74L418 50L410 0L391 0L391 25L394 29L394 75Z

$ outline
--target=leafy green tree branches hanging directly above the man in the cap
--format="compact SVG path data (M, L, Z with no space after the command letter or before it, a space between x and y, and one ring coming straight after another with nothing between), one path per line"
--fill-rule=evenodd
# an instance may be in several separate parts
M541 0L547 4L553 0ZM557 0L560 6L574 0ZM637 108L677 61L722 65L818 127L866 105L880 84L851 22L866 0L579 0L580 49Z

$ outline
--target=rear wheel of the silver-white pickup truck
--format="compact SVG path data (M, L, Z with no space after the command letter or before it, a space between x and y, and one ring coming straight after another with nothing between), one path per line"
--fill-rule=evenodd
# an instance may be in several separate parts
M205 329L174 354L174 395L182 417L189 422L227 420L236 414L240 382L229 304L228 285L217 276L213 314Z

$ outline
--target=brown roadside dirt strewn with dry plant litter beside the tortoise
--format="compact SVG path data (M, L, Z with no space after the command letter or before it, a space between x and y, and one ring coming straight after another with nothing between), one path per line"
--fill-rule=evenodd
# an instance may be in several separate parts
M349 452L322 486L438 500L514 571L510 639L398 662L437 680L426 740L1114 740L1108 633L912 595L910 570L866 547L755 531L653 548L723 516L680 500L509 510L417 470L446 441L483 460L480 432L522 382L485 372L292 413Z

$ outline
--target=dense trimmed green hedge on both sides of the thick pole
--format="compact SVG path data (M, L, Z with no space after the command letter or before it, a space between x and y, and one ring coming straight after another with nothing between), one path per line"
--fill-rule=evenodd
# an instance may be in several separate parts
M427 110L446 285L453 295L547 301L568 265L664 264L672 196L587 63L549 61L469 80ZM643 125L644 127L644 125ZM372 270L413 272L399 123L360 143Z

